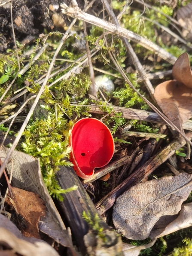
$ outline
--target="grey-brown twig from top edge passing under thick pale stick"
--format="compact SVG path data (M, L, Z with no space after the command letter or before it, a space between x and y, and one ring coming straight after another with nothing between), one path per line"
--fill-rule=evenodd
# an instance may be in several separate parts
M107 0L101 0L101 2L104 4L105 8L107 9L108 14L111 15L111 17L113 19L113 22L116 24L116 26L120 27L119 22L118 22L118 20L115 16L113 10L111 9L108 1ZM134 52L131 44L128 43L128 40L125 37L122 37L122 40L124 42L126 51L128 52L129 56L131 57L132 63L134 64L135 68L137 69L140 77L142 77L143 82L144 82L147 90L149 91L149 94L150 94L151 98L153 99L153 101L155 101L155 98L153 96L155 90L154 90L150 80L147 78L146 73L144 72L143 67L142 67L136 53Z

